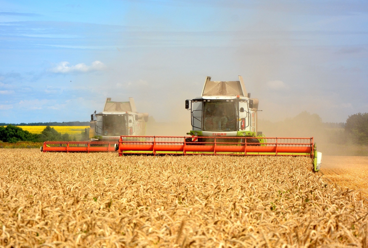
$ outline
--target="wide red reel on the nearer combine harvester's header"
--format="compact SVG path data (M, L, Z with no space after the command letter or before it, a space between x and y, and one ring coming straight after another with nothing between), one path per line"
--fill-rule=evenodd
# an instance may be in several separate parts
M121 136L124 154L312 156L313 138Z

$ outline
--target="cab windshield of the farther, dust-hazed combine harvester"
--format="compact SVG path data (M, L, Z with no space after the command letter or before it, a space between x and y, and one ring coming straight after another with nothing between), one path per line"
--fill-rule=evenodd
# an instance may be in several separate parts
M102 126L102 133L105 136L127 135L126 121L123 115L103 115Z

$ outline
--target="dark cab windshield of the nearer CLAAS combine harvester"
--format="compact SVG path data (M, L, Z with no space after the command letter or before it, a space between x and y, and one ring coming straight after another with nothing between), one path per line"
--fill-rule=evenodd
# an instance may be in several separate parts
M203 105L203 131L237 131L235 102L211 100Z

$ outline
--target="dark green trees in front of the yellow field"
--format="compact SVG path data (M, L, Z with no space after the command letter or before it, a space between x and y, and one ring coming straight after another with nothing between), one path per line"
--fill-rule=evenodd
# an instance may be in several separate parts
M0 126L0 140L15 143L18 141L45 142L69 141L69 134L61 134L53 127L46 126L40 134L32 134L14 125Z

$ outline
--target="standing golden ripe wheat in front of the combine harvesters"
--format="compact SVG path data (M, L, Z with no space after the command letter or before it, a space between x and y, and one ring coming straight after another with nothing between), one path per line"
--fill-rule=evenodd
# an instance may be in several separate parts
M367 247L367 202L307 157L0 157L0 247Z

